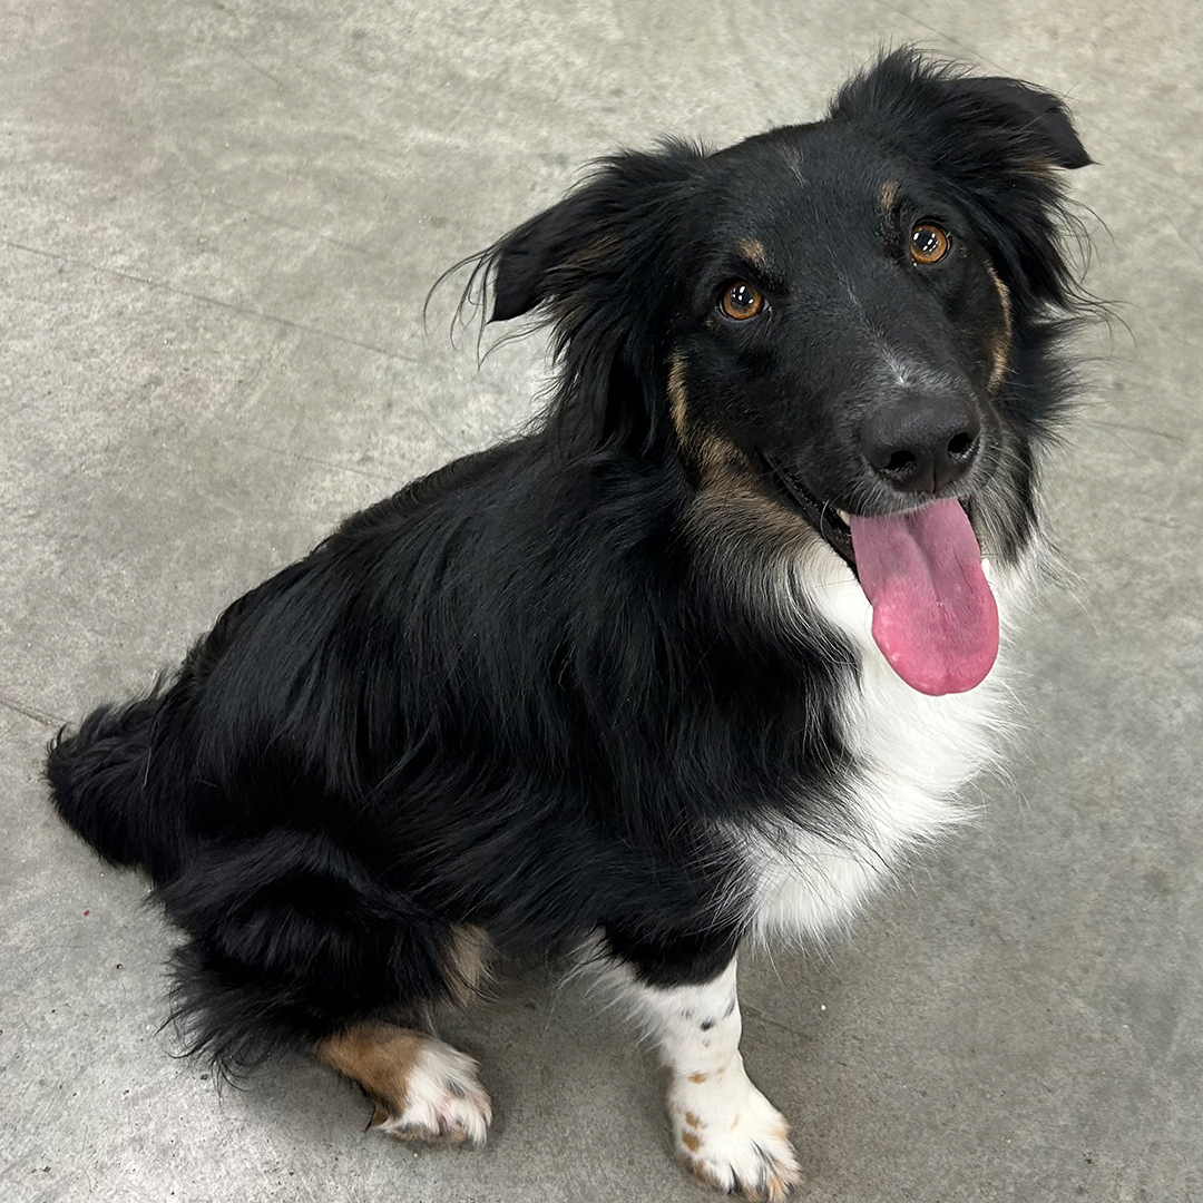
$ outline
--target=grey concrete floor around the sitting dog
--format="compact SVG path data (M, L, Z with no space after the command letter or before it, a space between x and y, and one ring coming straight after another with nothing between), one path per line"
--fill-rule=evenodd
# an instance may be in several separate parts
M307 1062L172 1057L170 936L48 813L52 729L340 515L529 411L539 345L423 337L435 275L664 131L819 112L881 41L1062 90L1100 165L1088 404L1050 481L986 817L824 956L743 970L808 1203L1203 1199L1203 23L1193 0L0 0L0 1196L701 1201L653 1057L523 978L452 1035L487 1149Z

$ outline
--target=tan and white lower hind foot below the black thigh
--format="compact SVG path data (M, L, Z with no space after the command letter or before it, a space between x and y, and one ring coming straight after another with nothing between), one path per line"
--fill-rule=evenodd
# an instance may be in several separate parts
M316 1054L375 1103L369 1127L408 1140L485 1143L493 1109L476 1062L437 1037L365 1023L319 1042Z

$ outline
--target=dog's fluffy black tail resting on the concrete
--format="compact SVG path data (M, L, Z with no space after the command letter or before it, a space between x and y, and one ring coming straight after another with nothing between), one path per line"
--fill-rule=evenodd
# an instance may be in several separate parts
M94 710L75 734L63 728L46 755L59 814L113 865L159 876L174 861L174 816L158 805L152 733L164 704L160 677L144 698Z

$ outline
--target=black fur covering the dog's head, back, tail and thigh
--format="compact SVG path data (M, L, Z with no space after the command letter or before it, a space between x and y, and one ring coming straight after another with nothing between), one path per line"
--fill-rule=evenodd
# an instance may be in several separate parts
M838 836L857 768L852 648L729 583L819 538L795 488L907 504L857 451L873 339L980 415L953 492L1021 552L1074 303L1053 168L1086 162L1050 95L902 51L813 125L617 154L487 250L493 318L552 326L545 421L355 515L51 747L63 817L186 936L194 1045L242 1065L446 997L457 924L538 953L600 930L650 982L713 976L748 921L718 832ZM952 232L943 268L905 257L919 218ZM719 314L740 279L765 320Z

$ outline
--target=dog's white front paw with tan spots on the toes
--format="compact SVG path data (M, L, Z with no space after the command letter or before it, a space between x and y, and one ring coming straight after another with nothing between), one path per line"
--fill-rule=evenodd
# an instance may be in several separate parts
M672 1107L677 1160L707 1186L752 1203L782 1203L802 1180L784 1118L751 1083L734 1119L725 1108L709 1119L706 1110Z

